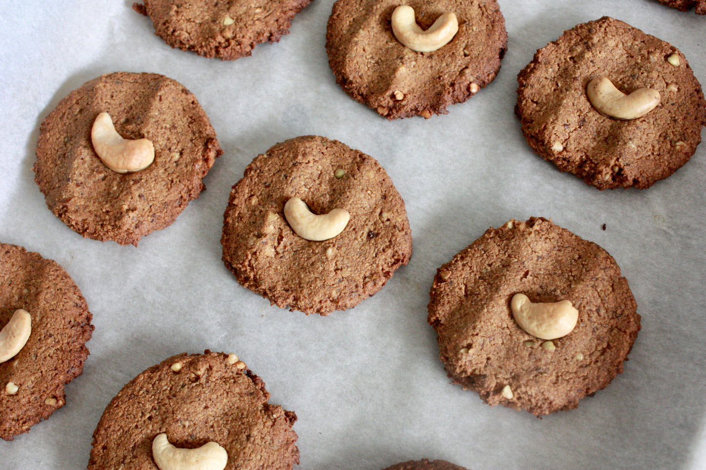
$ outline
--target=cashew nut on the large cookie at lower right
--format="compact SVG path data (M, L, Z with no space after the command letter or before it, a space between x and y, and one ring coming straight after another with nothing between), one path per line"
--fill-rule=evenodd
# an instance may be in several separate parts
M532 303L525 294L515 294L510 301L513 318L522 330L541 339L568 335L578 321L578 310L570 301Z

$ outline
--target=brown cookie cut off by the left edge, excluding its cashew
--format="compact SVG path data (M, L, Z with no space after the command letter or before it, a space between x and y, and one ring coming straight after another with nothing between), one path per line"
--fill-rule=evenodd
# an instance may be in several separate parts
M31 315L32 332L18 354L0 363L4 440L26 433L64 406L64 387L83 372L85 343L93 331L86 301L61 266L0 243L0 329L19 308ZM18 387L16 393L8 393L9 382Z

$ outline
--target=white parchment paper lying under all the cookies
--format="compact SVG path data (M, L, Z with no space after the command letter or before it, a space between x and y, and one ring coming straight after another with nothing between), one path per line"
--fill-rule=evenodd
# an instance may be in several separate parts
M6 2L0 241L63 266L95 332L66 406L0 442L0 467L85 468L96 423L126 382L172 354L208 348L238 354L271 402L297 412L301 469L378 470L421 457L475 470L706 468L706 144L650 189L601 192L535 155L514 114L516 76L534 52L604 15L674 44L705 84L706 17L654 0L499 3L509 44L496 80L448 115L388 122L345 95L328 68L333 0L315 0L281 42L232 62L171 49L131 0ZM208 191L138 248L68 229L31 170L44 116L113 71L183 83L225 150ZM305 134L378 159L405 198L414 238L411 263L381 292L328 318L270 306L220 260L230 187L258 153ZM642 315L625 373L578 409L541 420L452 385L426 324L436 267L488 227L533 215L606 248Z

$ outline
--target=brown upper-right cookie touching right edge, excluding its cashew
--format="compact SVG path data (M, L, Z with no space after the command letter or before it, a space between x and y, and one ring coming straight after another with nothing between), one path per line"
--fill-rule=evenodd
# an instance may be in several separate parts
M625 94L657 90L659 104L636 119L604 116L587 97L600 77ZM683 54L613 18L564 32L517 81L515 112L532 150L599 189L666 178L694 154L706 125L706 101Z

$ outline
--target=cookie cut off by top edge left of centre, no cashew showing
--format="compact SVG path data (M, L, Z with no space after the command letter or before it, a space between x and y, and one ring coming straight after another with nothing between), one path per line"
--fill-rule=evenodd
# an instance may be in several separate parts
M233 60L252 54L256 44L278 42L310 1L144 0L133 8L152 19L155 34L170 46Z

